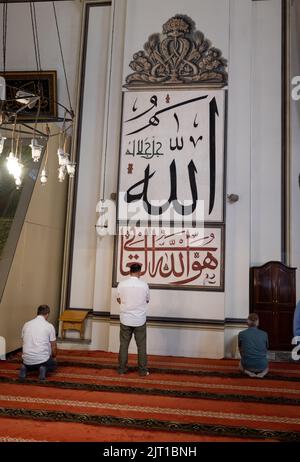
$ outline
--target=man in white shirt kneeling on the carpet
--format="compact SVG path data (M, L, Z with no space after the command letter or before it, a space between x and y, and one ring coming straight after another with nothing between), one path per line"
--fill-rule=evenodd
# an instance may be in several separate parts
M37 317L23 326L23 364L19 373L21 381L25 380L27 372L34 370L39 370L39 380L44 381L46 373L57 366L56 335L53 325L47 321L49 313L48 305L40 305Z

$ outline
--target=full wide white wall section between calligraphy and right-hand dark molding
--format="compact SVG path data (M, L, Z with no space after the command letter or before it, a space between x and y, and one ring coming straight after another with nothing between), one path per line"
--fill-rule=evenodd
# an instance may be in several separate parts
M231 0L228 100L226 318L243 319L250 266L281 259L280 0Z

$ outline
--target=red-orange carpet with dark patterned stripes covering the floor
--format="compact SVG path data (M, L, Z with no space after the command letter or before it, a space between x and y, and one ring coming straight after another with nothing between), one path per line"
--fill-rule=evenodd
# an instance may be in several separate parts
M59 369L18 381L20 356L0 361L0 442L300 441L300 364L271 363L264 379L236 360L59 351Z

